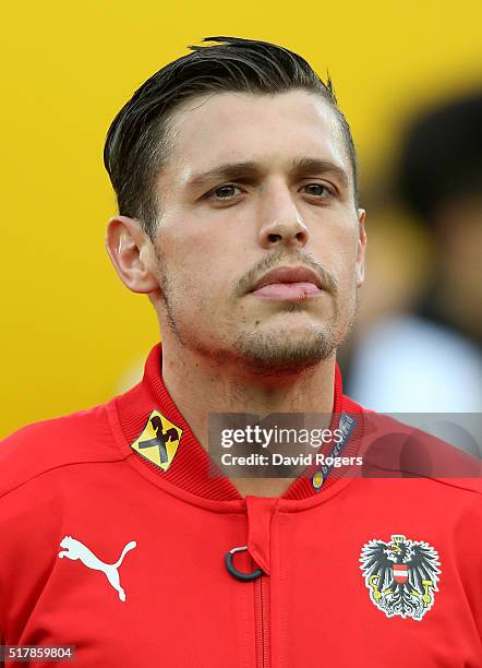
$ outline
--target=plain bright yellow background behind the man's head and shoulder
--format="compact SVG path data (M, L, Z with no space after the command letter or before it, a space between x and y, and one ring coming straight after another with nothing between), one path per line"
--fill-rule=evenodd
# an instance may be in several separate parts
M101 154L120 107L185 45L252 37L328 68L372 179L400 119L475 83L482 62L480 0L2 8L0 436L108 399L158 339L104 250L116 206Z

